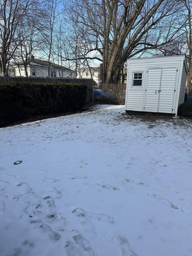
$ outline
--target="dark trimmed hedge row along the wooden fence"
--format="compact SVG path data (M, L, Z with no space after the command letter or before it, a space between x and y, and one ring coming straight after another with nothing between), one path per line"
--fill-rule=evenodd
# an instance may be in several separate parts
M35 115L76 111L86 104L86 85L54 83L0 83L0 126Z

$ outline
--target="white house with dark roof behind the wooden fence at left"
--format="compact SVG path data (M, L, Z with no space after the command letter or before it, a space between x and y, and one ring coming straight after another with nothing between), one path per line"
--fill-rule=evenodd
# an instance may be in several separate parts
M23 61L20 61L19 63L12 63L12 67L14 68L14 71L12 71L12 74L14 76L26 76L24 63ZM35 59L33 56L29 59L28 65L27 65L27 73L28 76L31 77L46 77L48 76L48 67L49 62L45 60ZM69 68L66 68L64 66L55 64L50 62L50 76L51 77L69 77L74 78L75 77L75 71L71 70Z

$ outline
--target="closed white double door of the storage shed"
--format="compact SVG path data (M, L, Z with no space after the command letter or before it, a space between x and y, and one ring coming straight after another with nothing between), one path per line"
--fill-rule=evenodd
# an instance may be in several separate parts
M147 69L143 111L172 113L177 67Z

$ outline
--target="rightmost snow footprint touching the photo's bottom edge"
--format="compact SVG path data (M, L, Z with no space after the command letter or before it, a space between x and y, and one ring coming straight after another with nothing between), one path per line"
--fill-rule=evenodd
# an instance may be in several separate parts
M130 244L125 237L115 235L112 238L112 242L120 247L122 256L137 256L137 254L131 250Z

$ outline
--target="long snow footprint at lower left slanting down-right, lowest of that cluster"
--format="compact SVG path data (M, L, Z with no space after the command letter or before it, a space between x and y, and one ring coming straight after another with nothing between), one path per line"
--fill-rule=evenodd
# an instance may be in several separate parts
M50 226L44 224L41 220L30 221L29 227L37 229L40 234L46 236L52 243L56 243L61 238L59 233L54 232Z

